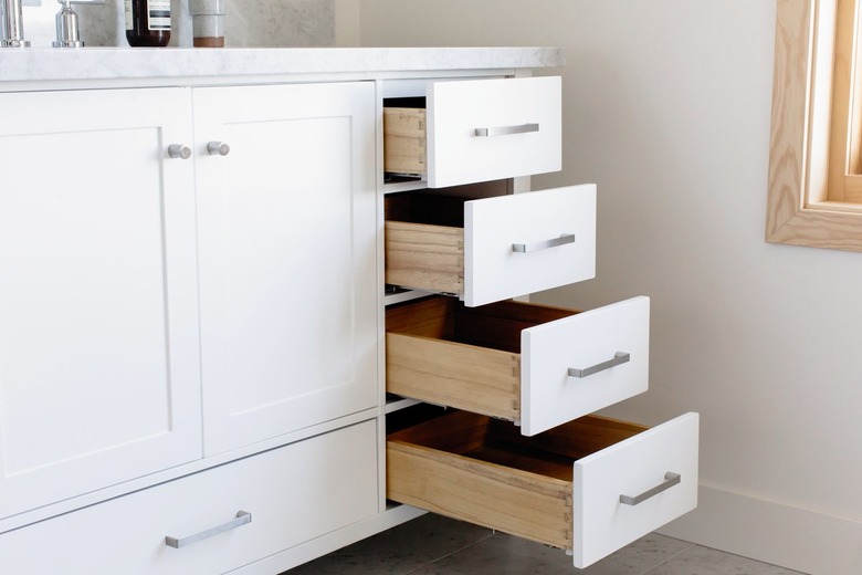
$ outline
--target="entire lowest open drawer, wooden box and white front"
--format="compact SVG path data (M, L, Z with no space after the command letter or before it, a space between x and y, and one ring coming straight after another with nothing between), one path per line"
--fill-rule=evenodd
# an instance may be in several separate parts
M393 501L569 550L586 567L697 503L698 416L588 416L533 438L451 412L391 433Z

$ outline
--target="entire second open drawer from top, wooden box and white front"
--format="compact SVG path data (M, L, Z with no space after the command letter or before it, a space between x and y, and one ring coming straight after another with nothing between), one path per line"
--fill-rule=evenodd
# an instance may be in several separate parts
M595 185L461 203L395 196L385 236L389 284L455 293L474 306L596 275Z

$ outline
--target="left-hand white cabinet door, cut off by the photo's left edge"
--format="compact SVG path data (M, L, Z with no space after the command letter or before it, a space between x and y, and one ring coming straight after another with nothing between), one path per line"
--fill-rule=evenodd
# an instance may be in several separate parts
M0 95L0 516L201 456L190 100Z

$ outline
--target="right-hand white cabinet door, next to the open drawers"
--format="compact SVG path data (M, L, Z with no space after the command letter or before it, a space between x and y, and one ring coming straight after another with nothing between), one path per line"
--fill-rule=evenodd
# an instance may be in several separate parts
M374 85L197 90L195 126L204 452L374 407Z

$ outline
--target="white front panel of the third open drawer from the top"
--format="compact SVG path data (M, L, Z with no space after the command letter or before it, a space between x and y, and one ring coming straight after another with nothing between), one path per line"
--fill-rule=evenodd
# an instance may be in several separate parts
M521 337L522 431L526 436L649 387L649 297L530 327Z

